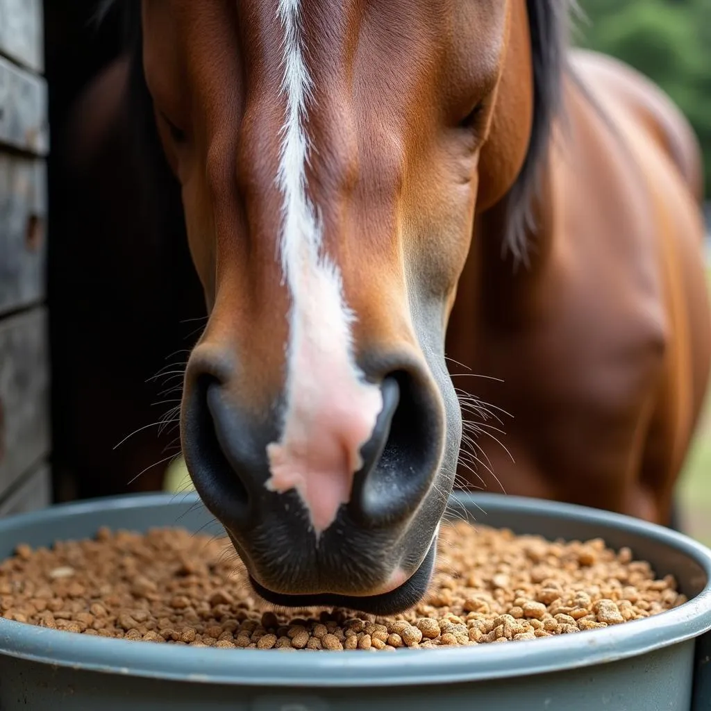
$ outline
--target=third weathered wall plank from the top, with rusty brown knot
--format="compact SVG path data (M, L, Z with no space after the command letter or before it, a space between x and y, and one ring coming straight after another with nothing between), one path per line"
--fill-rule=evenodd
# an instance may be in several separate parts
M46 164L0 153L0 316L45 296Z

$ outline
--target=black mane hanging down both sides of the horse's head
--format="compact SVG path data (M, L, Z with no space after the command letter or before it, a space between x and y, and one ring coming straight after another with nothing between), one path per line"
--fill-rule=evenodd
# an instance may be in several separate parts
M533 55L533 127L523 166L506 198L508 227L504 242L504 247L516 261L525 260L527 237L535 231L531 205L538 190L540 168L547 158L552 125L562 110L562 80L568 69L573 6L574 0L526 0ZM164 175L166 166L143 75L140 0L122 0L120 3L119 0L102 0L97 9L97 21L119 9L124 22L124 39L131 52L129 102L137 121L137 145L148 164L149 175L159 178L155 171ZM151 188L157 187L152 180L149 182Z

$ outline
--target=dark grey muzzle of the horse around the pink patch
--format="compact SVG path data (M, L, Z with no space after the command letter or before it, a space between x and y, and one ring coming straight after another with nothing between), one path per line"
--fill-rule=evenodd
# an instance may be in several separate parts
M419 363L400 358L393 368L398 359L392 357L363 363L370 382L378 383L382 407L360 447L360 468L338 484L347 485L346 496L329 499L333 515L319 528L318 486L330 491L333 482L326 476L308 479L310 488L269 486L269 446L283 427L274 413L283 408L270 407L264 417L247 414L235 397L240 389L232 369L213 360L197 355L188 365L183 453L196 490L228 531L255 591L284 606L373 614L415 604L429 584L446 503L436 481L444 449L441 396ZM325 438L348 427L348 417L321 422ZM333 477L346 474L334 471Z

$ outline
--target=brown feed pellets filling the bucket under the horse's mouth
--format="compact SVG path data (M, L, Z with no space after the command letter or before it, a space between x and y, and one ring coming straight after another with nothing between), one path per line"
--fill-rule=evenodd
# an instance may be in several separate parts
M429 593L405 614L278 611L256 599L227 539L101 529L94 540L18 545L0 563L0 615L134 641L282 651L395 651L584 632L685 602L631 551L456 523Z

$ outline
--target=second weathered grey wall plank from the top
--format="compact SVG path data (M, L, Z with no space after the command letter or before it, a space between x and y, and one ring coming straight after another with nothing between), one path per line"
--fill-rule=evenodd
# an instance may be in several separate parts
M47 82L2 57L0 144L40 156L49 149Z

